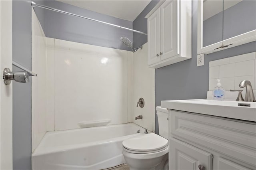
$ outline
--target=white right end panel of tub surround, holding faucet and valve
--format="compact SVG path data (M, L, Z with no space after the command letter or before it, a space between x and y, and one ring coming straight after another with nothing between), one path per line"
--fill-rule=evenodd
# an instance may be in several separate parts
M132 119L131 121L154 132L155 127L155 71L148 68L148 43L142 45L132 55ZM138 100L142 97L145 101L143 108L136 107ZM140 120L134 120L138 115L142 115ZM129 114L130 116L130 114Z

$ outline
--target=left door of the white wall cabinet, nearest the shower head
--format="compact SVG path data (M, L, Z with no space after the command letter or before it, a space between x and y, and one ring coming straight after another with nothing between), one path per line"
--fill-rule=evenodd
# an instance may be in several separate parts
M148 65L160 61L160 8L148 18Z

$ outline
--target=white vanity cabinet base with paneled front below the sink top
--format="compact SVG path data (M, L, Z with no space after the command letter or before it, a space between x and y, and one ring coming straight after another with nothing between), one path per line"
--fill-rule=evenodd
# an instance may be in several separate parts
M170 170L256 169L256 122L169 110L169 132Z

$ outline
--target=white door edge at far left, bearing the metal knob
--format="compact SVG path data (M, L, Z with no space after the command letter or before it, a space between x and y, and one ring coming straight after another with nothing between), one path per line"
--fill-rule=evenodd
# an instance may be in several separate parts
M0 72L12 69L12 0L0 0ZM12 169L12 83L0 81L0 169Z

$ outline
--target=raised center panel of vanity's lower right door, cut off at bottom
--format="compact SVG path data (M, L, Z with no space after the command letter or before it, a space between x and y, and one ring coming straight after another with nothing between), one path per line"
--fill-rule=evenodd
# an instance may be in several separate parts
M249 170L249 169L242 165L236 164L235 162L219 157L218 170Z

